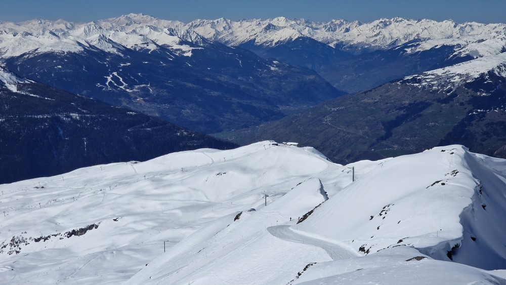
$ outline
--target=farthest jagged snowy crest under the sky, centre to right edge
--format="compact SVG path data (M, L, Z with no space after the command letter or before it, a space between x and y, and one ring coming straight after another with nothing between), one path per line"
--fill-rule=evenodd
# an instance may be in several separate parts
M231 21L227 19L195 20L186 25L211 40L226 45L238 46L253 41L256 45L272 47L278 43L307 36L330 46L355 45L368 49L386 49L411 42L429 42L425 45L413 44L411 52L427 50L437 45L455 42L476 44L476 48L463 50L459 56L486 56L496 54L506 45L504 24L463 23L453 21L410 20L404 18L379 19L371 23L332 20L325 23L304 19L289 20L278 17L268 20L251 19ZM481 52L480 40L496 41L494 51ZM432 40L432 42L431 42ZM475 51L475 52L473 52Z

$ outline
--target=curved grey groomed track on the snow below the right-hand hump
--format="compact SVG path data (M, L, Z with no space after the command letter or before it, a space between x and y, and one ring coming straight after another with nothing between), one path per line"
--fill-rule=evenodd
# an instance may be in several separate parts
M305 245L312 245L318 248L322 248L324 251L327 252L327 254L330 256L332 260L339 260L339 259L345 259L345 258L352 258L361 256L357 252L350 251L348 249L345 249L344 247L341 247L339 245L336 245L335 243L318 239L315 237L310 237L307 235L303 235L299 232L293 231L290 226L273 226L268 227L267 230L270 234L272 234L275 237L292 241L292 242L299 242L304 243Z

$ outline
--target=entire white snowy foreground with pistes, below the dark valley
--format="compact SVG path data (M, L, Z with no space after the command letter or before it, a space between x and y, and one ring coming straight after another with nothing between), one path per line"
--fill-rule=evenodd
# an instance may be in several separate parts
M506 160L460 145L341 166L263 141L0 191L2 284L506 284Z

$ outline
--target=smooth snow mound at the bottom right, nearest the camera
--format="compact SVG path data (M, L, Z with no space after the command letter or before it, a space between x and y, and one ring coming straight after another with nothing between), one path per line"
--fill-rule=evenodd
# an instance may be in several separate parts
M292 284L504 284L496 271L434 260L402 247L315 264Z

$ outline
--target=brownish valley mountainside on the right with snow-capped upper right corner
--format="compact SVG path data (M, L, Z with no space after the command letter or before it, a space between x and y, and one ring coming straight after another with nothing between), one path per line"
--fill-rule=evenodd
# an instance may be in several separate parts
M506 54L420 73L246 131L233 141L315 145L335 161L378 159L450 143L504 156Z

